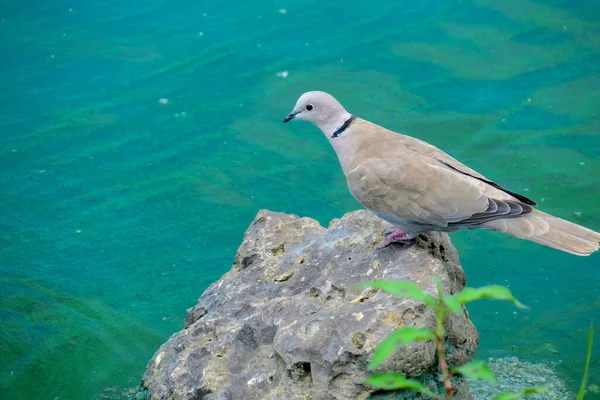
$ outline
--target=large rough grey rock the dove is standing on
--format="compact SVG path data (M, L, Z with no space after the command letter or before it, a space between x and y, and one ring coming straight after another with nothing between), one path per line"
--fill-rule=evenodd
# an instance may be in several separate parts
M389 333L401 326L435 327L423 303L355 284L408 280L446 294L465 285L455 248L443 233L415 246L374 249L389 225L367 211L333 220L260 211L244 235L231 271L189 310L185 328L154 355L142 385L149 399L383 398L361 382ZM470 361L478 333L464 315L447 323L451 365ZM441 388L435 344L414 343L380 368L401 371ZM470 399L464 382L460 394ZM396 393L394 398L399 397ZM412 396L402 392L402 396Z

